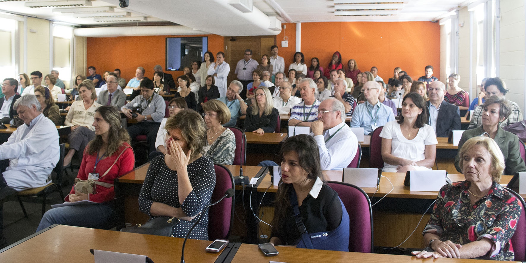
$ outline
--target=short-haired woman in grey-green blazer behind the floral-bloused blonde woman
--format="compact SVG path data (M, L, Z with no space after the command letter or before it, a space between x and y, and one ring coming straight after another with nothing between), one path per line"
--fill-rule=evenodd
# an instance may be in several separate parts
M519 137L499 127L499 122L506 119L511 112L508 100L492 96L482 106L482 126L464 131L459 141L459 148L462 148L462 145L472 137L488 136L497 143L504 155L504 175L515 175L526 171L519 151ZM457 155L455 167L461 172L462 167L459 164L460 156Z

